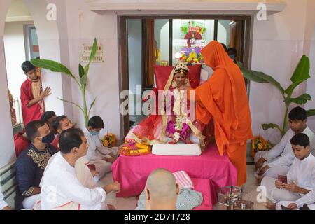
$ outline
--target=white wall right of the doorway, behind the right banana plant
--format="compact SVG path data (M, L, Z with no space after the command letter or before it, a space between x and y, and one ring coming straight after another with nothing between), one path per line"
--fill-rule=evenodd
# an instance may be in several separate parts
M304 52L304 34L307 20L307 1L286 0L287 6L281 13L270 15L267 21L255 18L253 25L253 53L251 68L272 75L283 87L290 85L290 77ZM313 8L314 13L314 8ZM315 20L308 21L309 26ZM314 29L312 27L311 29ZM314 63L314 62L311 62ZM305 84L304 84L305 85ZM303 85L295 90L293 97L303 94ZM259 134L261 123L282 125L283 98L275 87L268 84L251 83L250 94L253 132ZM292 109L292 105L290 109ZM280 134L269 130L267 139L276 142Z

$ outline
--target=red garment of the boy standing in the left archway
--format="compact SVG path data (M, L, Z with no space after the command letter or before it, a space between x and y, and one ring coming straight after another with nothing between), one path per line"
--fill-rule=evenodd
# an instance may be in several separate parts
M41 116L45 112L44 109L41 108L39 102L27 107L27 104L29 104L29 102L34 99L33 93L31 92L31 83L31 80L27 79L21 85L20 99L22 104L22 116L25 127L32 120L41 120ZM43 100L41 100L41 102L43 103Z

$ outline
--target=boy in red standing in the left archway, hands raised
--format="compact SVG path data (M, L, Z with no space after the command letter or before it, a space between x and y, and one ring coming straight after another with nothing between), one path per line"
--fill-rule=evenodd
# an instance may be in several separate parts
M21 104L23 122L26 126L32 120L41 120L45 112L43 99L51 94L50 87L42 90L41 78L36 73L36 67L31 62L22 64L22 70L27 76L27 80L21 85Z

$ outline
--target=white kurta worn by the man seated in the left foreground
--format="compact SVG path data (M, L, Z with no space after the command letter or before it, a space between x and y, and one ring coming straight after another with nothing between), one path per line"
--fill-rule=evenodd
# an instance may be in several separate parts
M106 200L105 190L85 188L76 178L76 169L60 152L46 169L41 188L41 209L55 209L69 202L80 204L80 209L102 208Z

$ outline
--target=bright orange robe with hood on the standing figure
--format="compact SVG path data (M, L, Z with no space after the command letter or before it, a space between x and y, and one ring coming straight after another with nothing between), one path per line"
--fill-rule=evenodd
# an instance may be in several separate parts
M218 41L204 47L202 55L214 73L196 89L196 118L205 124L214 118L218 151L237 167L241 186L246 183L246 142L253 137L244 76Z

